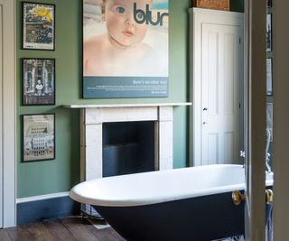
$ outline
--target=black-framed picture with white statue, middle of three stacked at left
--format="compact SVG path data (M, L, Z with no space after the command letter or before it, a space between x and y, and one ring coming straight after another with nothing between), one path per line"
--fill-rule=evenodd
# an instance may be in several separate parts
M55 60L23 59L23 106L55 104Z

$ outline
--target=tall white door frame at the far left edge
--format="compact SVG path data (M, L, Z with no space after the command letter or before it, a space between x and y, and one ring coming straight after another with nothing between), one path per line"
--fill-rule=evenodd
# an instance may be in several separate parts
M14 38L14 0L0 0L2 30L0 35L1 61L1 196L2 227L16 225L15 205L15 38Z

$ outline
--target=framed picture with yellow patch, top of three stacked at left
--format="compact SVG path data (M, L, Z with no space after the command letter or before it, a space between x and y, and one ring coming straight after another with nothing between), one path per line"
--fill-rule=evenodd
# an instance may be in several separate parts
M54 51L55 5L23 2L23 49Z

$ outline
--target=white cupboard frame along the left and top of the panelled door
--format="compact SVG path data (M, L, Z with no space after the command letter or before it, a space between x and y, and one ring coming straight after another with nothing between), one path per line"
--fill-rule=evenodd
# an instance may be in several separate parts
M190 8L190 76L192 108L190 113L190 166L201 161L201 23L239 26L244 29L244 14L217 10ZM197 60L197 61L194 61ZM242 91L242 90L240 90ZM242 94L240 94L241 96ZM242 101L241 101L242 102ZM242 129L242 126L240 126ZM241 141L241 140L240 140Z

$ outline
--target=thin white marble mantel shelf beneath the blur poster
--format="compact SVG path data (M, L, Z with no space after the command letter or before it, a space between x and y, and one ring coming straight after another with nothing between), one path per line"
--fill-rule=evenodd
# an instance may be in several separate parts
M65 108L116 108L116 107L181 107L191 106L191 102L182 103L146 103L146 104L106 104L106 105L63 105Z

